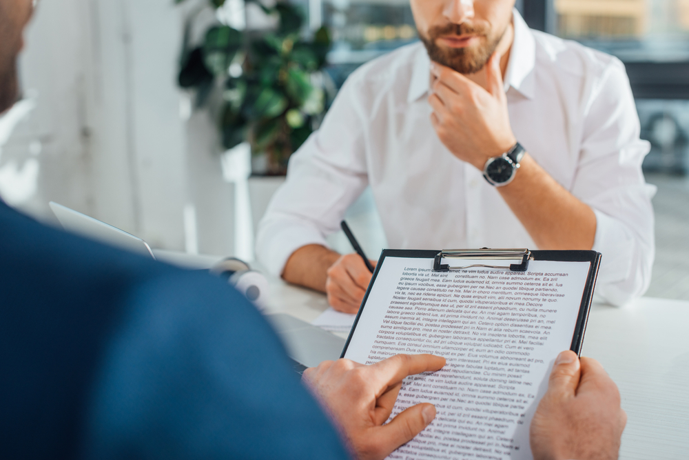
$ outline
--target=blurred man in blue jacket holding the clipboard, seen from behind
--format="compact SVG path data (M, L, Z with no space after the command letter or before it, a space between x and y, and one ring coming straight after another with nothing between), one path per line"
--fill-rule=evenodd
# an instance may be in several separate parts
M17 100L31 14L31 0L0 0L0 114ZM1 201L0 261L0 458L382 459L435 417L422 403L383 425L402 379L442 357L325 362L305 372L309 393L226 283ZM614 459L623 428L599 364L561 354L532 426L536 458Z

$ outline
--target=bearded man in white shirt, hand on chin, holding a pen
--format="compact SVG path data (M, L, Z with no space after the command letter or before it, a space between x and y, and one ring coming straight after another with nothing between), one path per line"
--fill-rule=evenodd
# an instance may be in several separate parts
M530 30L514 0L411 0L422 43L362 66L291 158L258 257L356 312L371 279L327 247L371 186L391 248L597 250L597 293L648 288L652 186L622 63Z

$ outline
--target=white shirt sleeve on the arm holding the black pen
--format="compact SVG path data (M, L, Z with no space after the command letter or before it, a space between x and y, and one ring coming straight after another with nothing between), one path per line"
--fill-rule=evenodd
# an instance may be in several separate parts
M296 250L327 247L347 208L368 184L364 156L365 121L356 82L347 81L320 130L292 155L287 180L271 199L258 225L258 260L281 275Z

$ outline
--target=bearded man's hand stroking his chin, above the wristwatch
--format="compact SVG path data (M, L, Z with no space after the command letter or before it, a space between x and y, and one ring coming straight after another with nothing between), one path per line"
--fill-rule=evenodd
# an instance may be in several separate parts
M517 140L495 53L486 63L487 89L451 68L431 63L431 123L455 157L483 170L491 157L507 152Z

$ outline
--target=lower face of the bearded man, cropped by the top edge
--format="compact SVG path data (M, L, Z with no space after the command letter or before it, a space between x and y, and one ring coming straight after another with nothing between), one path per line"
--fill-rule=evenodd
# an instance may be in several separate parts
M515 0L411 0L419 37L432 61L478 72L512 23Z

